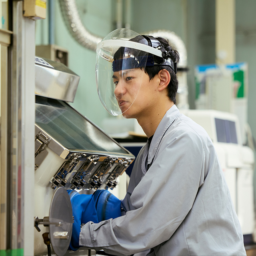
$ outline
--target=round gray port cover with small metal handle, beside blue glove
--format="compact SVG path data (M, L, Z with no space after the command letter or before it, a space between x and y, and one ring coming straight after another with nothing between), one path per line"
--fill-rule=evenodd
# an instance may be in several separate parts
M52 249L63 256L68 250L73 226L72 205L65 188L58 188L52 197L49 222Z

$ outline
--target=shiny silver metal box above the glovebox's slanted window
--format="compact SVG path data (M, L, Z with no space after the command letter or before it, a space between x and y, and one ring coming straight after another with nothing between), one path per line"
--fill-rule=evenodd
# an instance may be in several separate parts
M64 64L36 57L35 72L35 94L67 102L74 101L80 77Z

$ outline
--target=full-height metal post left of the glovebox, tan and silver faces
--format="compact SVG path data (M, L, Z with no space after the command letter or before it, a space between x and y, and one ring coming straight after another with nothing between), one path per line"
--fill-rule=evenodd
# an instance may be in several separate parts
M13 43L8 84L7 249L33 255L34 246L34 55L35 22L13 1Z

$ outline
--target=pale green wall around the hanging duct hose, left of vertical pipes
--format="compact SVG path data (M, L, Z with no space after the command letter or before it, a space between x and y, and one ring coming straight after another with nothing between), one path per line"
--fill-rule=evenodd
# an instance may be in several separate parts
M100 103L96 90L96 53L78 44L70 35L62 18L59 1L55 0L53 2L55 9L54 44L68 50L68 66L80 76L76 97L71 105L95 124L102 126L102 120L108 114ZM83 24L90 32L104 37L113 30L112 1L77 0L76 3ZM36 21L36 45L48 44L48 22L48 18Z

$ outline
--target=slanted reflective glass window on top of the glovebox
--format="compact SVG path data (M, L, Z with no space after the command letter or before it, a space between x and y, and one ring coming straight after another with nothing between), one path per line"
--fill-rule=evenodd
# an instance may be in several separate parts
M129 154L66 102L36 96L36 124L68 150Z

